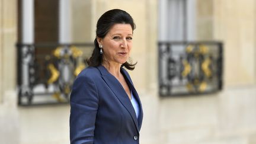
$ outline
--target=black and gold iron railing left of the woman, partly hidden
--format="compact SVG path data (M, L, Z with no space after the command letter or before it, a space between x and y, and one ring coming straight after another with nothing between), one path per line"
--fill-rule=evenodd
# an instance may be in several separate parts
M18 104L69 103L76 75L86 67L92 43L17 44Z

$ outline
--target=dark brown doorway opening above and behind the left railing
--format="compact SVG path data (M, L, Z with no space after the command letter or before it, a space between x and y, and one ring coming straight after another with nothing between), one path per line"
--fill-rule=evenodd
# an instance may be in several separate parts
M46 44L35 49L39 79L46 79L47 67L43 65L56 49L47 47L47 43L59 43L59 0L34 0L34 43Z

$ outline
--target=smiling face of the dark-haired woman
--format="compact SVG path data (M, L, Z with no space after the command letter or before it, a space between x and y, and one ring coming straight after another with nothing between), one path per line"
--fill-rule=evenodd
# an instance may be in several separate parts
M130 24L114 24L106 36L97 38L110 65L123 64L130 56L133 30Z

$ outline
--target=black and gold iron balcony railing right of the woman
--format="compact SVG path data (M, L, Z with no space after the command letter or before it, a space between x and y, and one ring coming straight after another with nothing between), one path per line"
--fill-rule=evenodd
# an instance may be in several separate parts
M222 89L223 44L160 41L159 95L209 94Z

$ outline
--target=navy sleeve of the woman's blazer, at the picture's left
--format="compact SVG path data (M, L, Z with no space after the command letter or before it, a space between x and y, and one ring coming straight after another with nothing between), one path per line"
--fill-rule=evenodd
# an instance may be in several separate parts
M95 82L85 75L78 76L71 92L69 117L71 144L93 143L98 91Z

